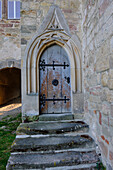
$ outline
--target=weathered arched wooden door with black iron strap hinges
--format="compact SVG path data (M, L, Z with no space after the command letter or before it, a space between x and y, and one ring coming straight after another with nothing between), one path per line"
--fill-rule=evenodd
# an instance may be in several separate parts
M65 50L48 47L39 61L40 114L71 113L70 63Z

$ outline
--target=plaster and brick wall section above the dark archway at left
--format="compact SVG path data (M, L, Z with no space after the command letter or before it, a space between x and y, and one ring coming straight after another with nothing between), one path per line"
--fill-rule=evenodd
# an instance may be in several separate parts
M7 19L7 1L2 1L2 20L0 20L0 69L7 61L21 62L20 20ZM9 67L9 64L5 65Z

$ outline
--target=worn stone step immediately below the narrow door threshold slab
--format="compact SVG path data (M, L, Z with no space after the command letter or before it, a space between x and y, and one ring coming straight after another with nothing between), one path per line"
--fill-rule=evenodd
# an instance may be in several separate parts
M88 132L89 126L82 121L21 123L17 135L61 134L65 132Z

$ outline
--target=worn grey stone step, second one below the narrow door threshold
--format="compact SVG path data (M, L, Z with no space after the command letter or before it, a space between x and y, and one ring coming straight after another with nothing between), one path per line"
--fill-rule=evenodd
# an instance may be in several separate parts
M12 145L12 152L17 151L55 151L72 148L92 148L95 143L88 135L78 136L47 136L16 138Z

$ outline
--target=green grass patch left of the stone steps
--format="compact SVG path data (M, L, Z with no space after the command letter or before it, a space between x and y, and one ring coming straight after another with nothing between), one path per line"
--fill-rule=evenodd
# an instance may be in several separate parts
M16 129L21 123L21 114L7 116L0 121L0 170L5 170L10 148L16 137Z

